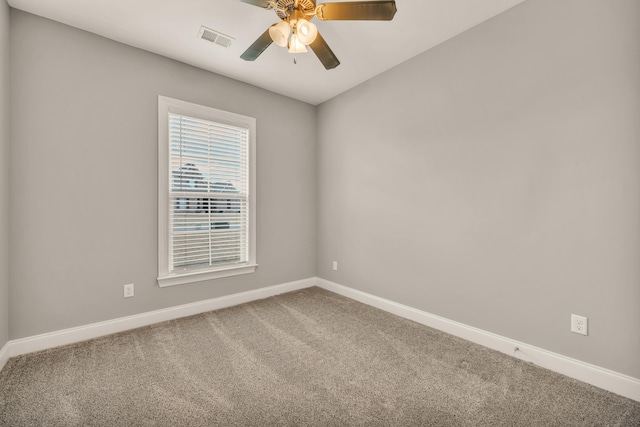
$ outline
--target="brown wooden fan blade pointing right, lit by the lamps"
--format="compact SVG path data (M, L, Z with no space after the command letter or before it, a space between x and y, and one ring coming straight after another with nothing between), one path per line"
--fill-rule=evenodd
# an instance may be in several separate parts
M397 10L394 0L325 3L316 16L323 21L391 21Z

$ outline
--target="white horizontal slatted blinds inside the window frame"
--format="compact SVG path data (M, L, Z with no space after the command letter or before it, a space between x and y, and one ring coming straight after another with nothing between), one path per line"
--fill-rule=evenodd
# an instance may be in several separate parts
M169 113L169 273L249 261L249 129Z

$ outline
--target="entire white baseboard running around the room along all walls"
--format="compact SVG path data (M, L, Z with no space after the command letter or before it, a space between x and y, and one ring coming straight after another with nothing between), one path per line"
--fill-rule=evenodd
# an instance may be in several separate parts
M356 289L348 288L321 278L309 278L283 283L252 291L240 292L191 304L184 304L162 310L155 310L105 322L93 323L76 328L35 335L12 340L0 350L0 370L10 357L75 342L86 341L117 332L140 328L166 320L200 314L211 310L231 307L286 292L318 286L347 298L404 317L414 322L438 329L476 344L532 362L543 368L567 375L596 387L640 402L640 380L609 369L591 365L561 354L553 353L519 341L505 338L482 329L454 322L406 305L402 305ZM514 348L518 351L514 352Z

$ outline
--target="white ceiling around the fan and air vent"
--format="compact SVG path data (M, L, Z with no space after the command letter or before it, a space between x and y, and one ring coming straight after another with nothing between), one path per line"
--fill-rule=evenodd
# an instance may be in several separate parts
M350 0L336 0L350 1ZM393 21L314 20L341 64L272 44L255 62L240 55L275 12L240 0L8 0L10 6L310 104L320 104L524 0L396 0ZM317 3L329 1L318 0ZM233 37L223 48L200 27Z

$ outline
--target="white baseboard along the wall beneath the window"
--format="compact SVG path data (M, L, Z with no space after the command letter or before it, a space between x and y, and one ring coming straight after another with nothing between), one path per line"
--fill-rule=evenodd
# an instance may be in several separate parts
M279 295L298 289L308 288L314 286L315 283L316 278L312 277L295 282L288 282L280 285L269 286L266 288L255 289L252 291L226 295L219 298L198 301L191 304L178 305L175 307L149 311L133 316L121 317L118 319L92 323L90 325L79 326L76 328L64 329L62 331L55 331L27 338L12 340L9 341L0 352L0 369L2 368L2 366L4 366L4 364L2 363L3 357L6 357L6 359L8 359L9 357L19 356L21 354L32 353L34 351L46 350L48 348L58 347L61 345L86 341L104 335L140 328L142 326L148 326L158 322L164 322L166 320L173 320L180 317L205 313L211 310L231 307L234 305L268 298L274 295Z

